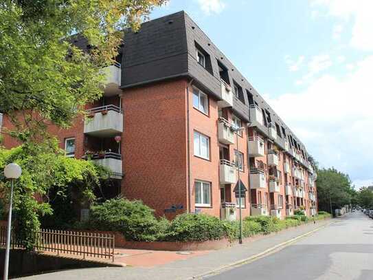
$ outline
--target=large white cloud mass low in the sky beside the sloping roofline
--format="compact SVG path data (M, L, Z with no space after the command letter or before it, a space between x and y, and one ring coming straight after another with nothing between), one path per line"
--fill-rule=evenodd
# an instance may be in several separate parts
M330 65L316 61L314 72ZM268 100L321 166L335 166L352 181L370 180L373 169L373 56L355 65L346 76L324 74L302 92Z

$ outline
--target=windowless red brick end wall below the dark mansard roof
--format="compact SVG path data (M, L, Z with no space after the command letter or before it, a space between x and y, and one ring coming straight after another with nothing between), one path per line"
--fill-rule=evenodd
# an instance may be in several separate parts
M127 89L122 96L122 194L164 215L187 209L186 80Z

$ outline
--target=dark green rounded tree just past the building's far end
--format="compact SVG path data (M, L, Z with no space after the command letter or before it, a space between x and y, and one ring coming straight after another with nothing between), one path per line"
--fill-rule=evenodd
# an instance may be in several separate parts
M336 169L317 170L317 199L319 209L330 211L351 203L354 190L347 174Z

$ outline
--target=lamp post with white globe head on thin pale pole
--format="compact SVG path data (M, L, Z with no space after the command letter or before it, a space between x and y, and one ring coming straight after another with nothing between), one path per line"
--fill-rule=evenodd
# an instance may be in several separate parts
M9 201L9 213L8 213L8 228L6 237L6 249L5 249L5 261L4 261L4 274L3 279L8 280L8 268L9 268L9 250L10 250L10 232L12 230L12 202L13 202L13 181L21 176L22 169L16 163L10 163L5 166L4 175L5 178L10 179L10 201Z

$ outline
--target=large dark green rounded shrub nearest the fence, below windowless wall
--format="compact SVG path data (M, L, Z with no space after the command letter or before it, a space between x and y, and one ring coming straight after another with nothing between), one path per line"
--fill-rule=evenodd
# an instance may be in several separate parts
M155 241L166 222L158 222L153 212L139 200L106 200L91 206L89 228L119 231L127 240Z

